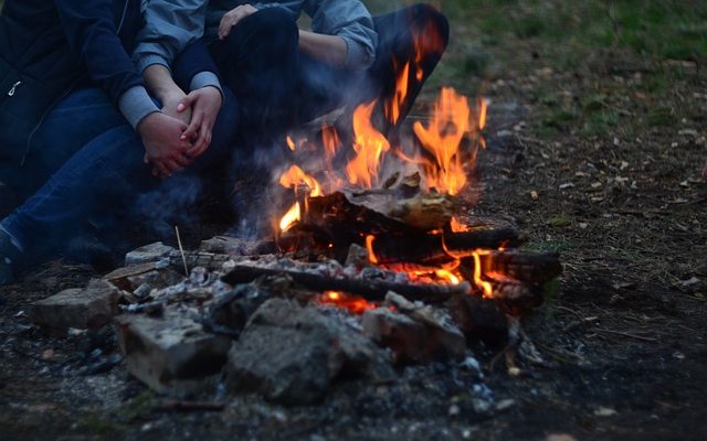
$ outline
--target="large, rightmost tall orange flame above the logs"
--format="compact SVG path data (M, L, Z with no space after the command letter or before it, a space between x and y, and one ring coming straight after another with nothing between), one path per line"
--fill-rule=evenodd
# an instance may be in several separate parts
M454 195L466 184L460 144L469 132L469 115L466 98L445 87L434 106L430 126L425 128L420 121L413 125L422 147L436 160L436 164L428 164L425 171L428 186L437 192Z

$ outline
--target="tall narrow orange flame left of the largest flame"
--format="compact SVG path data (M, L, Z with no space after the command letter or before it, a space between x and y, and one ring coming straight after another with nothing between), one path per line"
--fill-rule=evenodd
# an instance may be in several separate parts
M354 150L357 154L346 165L346 176L349 182L367 189L372 187L378 181L381 158L390 150L390 143L386 137L371 123L374 106L376 101L372 101L357 107L354 111L354 133L356 135Z

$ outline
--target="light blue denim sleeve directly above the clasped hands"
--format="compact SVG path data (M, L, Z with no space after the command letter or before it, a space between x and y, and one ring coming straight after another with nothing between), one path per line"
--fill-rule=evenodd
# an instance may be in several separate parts
M152 64L171 68L177 55L203 36L208 0L147 0L145 26L133 61L140 72Z

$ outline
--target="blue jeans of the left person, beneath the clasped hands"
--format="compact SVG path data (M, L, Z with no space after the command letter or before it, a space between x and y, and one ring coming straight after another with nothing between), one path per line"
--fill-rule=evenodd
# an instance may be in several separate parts
M170 213L179 213L196 200L207 168L225 157L232 146L239 112L233 95L228 89L224 94L211 146L182 173L163 181L152 176L151 165L143 161L139 136L123 120L83 144L0 226L25 251L44 255L82 234L87 220L124 216L135 223L139 219L133 216L143 215L154 217L156 225L163 224ZM101 99L107 101L105 96Z

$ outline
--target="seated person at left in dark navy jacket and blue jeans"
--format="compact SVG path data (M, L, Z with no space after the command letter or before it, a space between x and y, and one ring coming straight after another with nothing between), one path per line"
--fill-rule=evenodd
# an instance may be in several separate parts
M6 1L0 74L13 83L0 98L0 176L31 194L54 174L0 223L0 284L64 245L87 216L119 213L127 198L158 187L159 178L184 168L196 173L229 147L234 103L226 89L222 95L203 44L173 64L178 83L192 90L178 109L160 111L148 95L128 56L140 12L137 1ZM159 98L175 90L160 63L148 63L145 77ZM187 109L190 125L182 120Z

